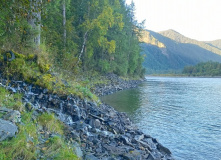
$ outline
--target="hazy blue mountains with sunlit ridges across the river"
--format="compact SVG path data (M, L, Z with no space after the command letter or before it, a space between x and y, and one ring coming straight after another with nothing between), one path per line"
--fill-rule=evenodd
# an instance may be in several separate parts
M201 42L174 31L144 30L140 39L147 73L180 72L199 62L221 62L220 41Z

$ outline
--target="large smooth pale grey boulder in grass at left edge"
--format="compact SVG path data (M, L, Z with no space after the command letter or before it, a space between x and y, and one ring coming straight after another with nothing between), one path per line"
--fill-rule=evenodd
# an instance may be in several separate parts
M0 119L0 142L7 138L14 137L17 132L18 127L15 124Z

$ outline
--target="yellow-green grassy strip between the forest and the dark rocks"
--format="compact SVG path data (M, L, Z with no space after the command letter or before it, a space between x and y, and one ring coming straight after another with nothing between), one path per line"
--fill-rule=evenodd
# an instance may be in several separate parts
M43 88L47 88L50 92L68 95L73 94L80 98L87 98L89 100L98 101L98 98L91 93L91 85L88 85L91 81L77 81L76 78L67 78L71 74L62 74L62 71L58 72L58 75L53 75L51 72L51 64L47 63L47 60L42 58L43 56L36 56L34 54L18 54L15 53L16 59L11 62L4 62L3 56L0 56L0 72L3 73L7 79L19 79L28 83L32 83ZM63 79L68 81L68 85L65 85ZM95 82L95 81L94 81ZM97 83L97 82L95 82ZM93 83L94 84L94 83Z

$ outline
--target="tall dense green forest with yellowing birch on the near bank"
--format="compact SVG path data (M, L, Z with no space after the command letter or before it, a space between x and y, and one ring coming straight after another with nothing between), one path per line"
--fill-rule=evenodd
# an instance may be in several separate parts
M140 76L142 24L125 0L1 0L1 52L34 53L79 73Z

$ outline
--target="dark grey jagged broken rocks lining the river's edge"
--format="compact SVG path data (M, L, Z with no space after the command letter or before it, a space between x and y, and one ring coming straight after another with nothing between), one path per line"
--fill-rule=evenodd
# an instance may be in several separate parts
M108 76L111 84L98 85L94 90L98 96L136 87L141 82L124 81L112 74ZM33 118L43 112L55 113L67 125L66 139L73 140L76 154L84 160L173 159L169 149L155 138L145 135L132 124L125 113L119 113L111 106L98 105L73 95L51 94L47 89L22 81L6 84L6 80L0 80L0 86L11 93L23 94L23 103L33 111ZM5 121L1 120L0 125L6 125ZM9 135L13 136L16 131L14 126ZM0 140L7 138L4 132L1 128Z

